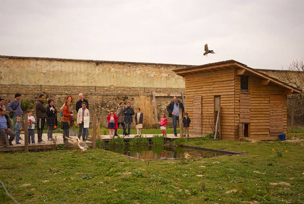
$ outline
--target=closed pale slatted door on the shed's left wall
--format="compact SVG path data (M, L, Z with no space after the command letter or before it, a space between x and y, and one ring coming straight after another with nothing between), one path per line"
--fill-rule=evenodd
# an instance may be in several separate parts
M193 96L193 133L202 134L202 96Z

